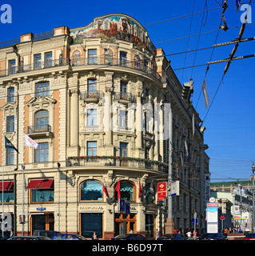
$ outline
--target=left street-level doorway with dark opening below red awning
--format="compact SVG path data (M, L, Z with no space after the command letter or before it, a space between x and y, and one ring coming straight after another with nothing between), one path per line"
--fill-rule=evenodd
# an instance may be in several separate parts
M30 222L30 235L34 230L54 230L54 214L32 214Z

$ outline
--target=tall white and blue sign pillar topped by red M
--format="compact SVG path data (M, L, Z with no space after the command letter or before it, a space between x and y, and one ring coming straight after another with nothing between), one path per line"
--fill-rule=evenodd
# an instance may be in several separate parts
M207 233L218 232L218 204L211 202L206 208Z

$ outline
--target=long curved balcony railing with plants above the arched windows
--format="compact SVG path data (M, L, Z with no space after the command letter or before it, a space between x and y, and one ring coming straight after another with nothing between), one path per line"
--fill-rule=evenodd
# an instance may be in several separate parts
M168 165L163 162L157 162L142 158L123 158L118 156L78 156L66 159L66 166L115 166L131 169L155 170L167 173Z

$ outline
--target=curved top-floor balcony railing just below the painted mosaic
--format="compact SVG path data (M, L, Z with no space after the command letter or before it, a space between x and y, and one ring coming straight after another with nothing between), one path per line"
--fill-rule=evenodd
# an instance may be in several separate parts
M153 77L161 81L161 75L148 66L140 62L127 62L121 58L105 58L105 57L93 57L93 58L78 58L70 61L71 66L86 66L86 65L107 65L107 66L122 66L131 68L134 70L140 70L146 74L151 74Z

